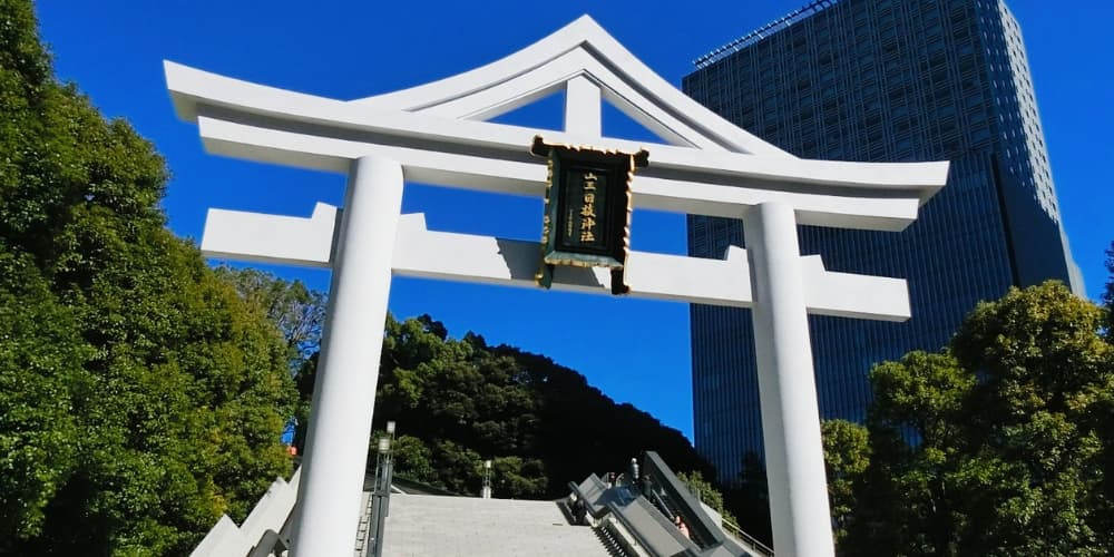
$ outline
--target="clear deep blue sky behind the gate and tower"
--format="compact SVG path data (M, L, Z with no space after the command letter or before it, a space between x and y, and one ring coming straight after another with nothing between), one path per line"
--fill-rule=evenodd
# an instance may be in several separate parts
M525 47L588 13L651 68L680 87L692 60L803 0L711 2L380 2L100 0L39 3L42 36L62 79L76 81L108 116L155 143L173 172L170 227L199 238L208 207L309 215L341 205L343 177L206 155L197 128L178 121L163 59L250 81L351 99L455 75ZM1014 0L1025 35L1053 176L1076 261L1097 297L1103 250L1114 240L1114 45L1105 1ZM556 126L559 102L506 121ZM615 111L608 135L647 139ZM431 228L536 238L539 199L443 188L408 188L404 212ZM684 218L635 213L634 247L684 253ZM328 289L328 273L273 268ZM391 310L430 313L455 336L467 331L550 355L619 402L631 402L692 438L688 307L534 290L397 278ZM590 325L586 325L590 324ZM560 331L617 332L610 352Z

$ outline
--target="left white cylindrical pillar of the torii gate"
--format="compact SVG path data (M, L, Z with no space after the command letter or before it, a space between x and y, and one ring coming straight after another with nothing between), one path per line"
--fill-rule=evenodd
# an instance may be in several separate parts
M351 555L355 544L402 183L399 163L378 156L349 170L292 555Z

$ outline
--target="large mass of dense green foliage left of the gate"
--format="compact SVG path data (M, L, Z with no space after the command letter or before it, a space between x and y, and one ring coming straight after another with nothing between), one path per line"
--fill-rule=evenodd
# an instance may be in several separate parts
M0 0L0 554L183 555L289 458L287 344L165 227L162 158Z

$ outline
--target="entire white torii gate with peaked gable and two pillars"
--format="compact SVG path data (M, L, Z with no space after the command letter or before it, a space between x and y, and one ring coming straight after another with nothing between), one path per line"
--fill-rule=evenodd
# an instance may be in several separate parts
M343 211L209 209L202 241L213 257L332 268L294 555L352 551L391 276L535 286L538 243L430 231L421 214L400 214L403 182L544 195L546 164L529 154L543 131L485 120L560 90L565 130L545 130L548 141L649 152L636 207L743 219L746 248L723 261L629 253L629 295L753 310L774 547L834 554L807 314L903 321L909 300L903 280L801 256L797 225L903 229L944 186L946 162L795 158L690 99L587 16L487 66L352 101L165 69L178 116L197 123L209 153L349 176ZM667 144L602 137L603 100ZM605 268L558 267L553 282L608 286Z

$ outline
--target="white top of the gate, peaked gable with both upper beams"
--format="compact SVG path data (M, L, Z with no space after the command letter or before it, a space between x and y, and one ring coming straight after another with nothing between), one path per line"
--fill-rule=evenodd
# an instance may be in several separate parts
M695 102L584 16L504 59L431 84L342 101L165 62L183 119L216 154L346 172L361 156L402 164L407 179L543 195L547 141L649 150L632 185L636 207L740 217L783 202L798 222L902 229L947 179L947 163L810 160L759 139ZM483 121L565 88L566 130ZM604 138L607 100L665 141Z

